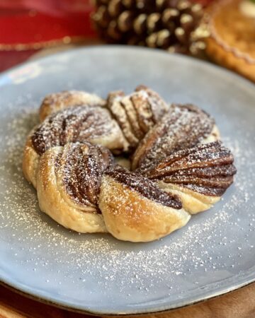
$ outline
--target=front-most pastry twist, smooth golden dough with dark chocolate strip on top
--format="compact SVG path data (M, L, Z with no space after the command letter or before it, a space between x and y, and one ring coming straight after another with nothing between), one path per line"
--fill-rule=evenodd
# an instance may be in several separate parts
M120 166L103 174L99 208L107 230L119 240L131 242L157 240L191 218L178 196Z

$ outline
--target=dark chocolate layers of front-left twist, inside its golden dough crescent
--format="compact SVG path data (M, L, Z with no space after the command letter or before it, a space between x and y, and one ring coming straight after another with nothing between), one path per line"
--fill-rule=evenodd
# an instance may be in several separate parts
M98 209L98 195L103 172L113 165L113 155L103 146L69 143L59 154L55 173L60 184L77 204Z

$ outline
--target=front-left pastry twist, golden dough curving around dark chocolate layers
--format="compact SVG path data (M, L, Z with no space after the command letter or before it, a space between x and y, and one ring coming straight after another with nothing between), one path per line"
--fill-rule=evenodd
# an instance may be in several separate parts
M88 142L50 148L37 174L41 211L77 232L106 232L98 195L103 172L112 164L107 148Z

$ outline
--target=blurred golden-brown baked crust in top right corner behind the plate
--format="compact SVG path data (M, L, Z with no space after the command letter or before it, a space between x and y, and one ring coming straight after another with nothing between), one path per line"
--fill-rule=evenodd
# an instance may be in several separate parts
M255 81L255 20L242 12L243 2L217 1L210 8L206 52L217 64Z

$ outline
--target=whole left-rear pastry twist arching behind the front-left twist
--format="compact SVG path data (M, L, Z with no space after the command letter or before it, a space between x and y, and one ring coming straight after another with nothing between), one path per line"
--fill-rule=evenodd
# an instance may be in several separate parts
M124 147L120 127L106 108L83 105L56 112L35 127L28 136L23 156L23 172L36 187L36 173L40 155L55 146L76 141L98 143L113 152Z

